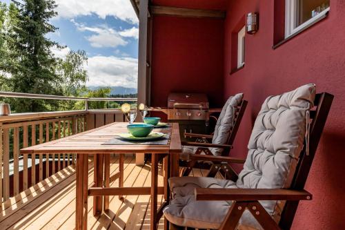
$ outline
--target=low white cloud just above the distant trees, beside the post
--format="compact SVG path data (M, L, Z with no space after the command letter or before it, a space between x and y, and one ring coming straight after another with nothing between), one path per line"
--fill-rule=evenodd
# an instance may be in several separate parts
M88 59L87 86L137 88L138 60L130 57L96 56Z

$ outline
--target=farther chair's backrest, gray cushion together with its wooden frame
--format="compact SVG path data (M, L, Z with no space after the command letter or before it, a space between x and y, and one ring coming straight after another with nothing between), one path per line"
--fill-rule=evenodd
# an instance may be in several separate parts
M247 102L243 99L243 93L229 97L224 104L213 135L213 144L233 144L235 135L241 123ZM228 155L229 151L223 148L210 148L213 155Z

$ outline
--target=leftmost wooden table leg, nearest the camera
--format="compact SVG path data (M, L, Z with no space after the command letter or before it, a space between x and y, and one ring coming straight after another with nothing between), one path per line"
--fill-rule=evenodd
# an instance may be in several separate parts
M88 155L77 155L77 188L75 229L86 230L88 226Z

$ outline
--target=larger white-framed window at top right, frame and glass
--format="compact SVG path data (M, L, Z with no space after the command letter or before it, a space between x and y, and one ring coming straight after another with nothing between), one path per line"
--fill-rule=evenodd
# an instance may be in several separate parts
M326 15L330 0L286 0L285 4L285 38L287 38Z

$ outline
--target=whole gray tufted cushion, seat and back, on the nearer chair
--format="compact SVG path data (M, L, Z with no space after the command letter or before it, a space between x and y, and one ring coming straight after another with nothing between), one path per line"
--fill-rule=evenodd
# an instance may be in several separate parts
M166 218L179 226L206 229L219 227L231 202L199 203L193 198L195 187L288 188L295 173L299 153L303 148L306 111L313 107L314 99L315 85L313 84L301 86L283 95L268 97L255 120L244 169L239 173L237 182L219 181L215 178L171 178L170 188L174 199L164 209ZM260 202L278 222L284 202ZM207 225L207 222L217 224L211 227ZM240 222L260 229L248 211L244 213ZM198 223L200 224L197 225ZM193 224L196 225L193 226Z

